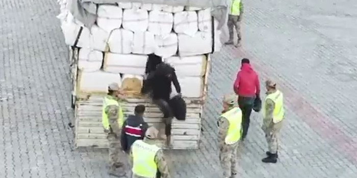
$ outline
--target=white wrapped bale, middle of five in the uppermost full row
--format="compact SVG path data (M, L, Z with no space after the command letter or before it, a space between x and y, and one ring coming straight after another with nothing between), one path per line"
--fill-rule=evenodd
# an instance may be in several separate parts
M151 11L148 31L154 35L168 35L172 31L173 15L168 12Z

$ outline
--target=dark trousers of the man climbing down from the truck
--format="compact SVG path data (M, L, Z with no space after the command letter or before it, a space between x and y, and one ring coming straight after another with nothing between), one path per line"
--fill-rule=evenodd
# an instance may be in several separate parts
M164 113L164 118L165 118L165 135L171 135L171 123L172 123L172 109L170 108L169 104L167 101L163 99L157 99L154 100L154 103L158 105L160 108L161 112Z

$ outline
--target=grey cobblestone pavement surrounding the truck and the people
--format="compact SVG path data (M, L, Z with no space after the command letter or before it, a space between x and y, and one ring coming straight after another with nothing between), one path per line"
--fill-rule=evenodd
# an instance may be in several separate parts
M56 1L0 0L0 177L109 177L107 151L73 149L70 82ZM240 58L285 93L277 164L263 164L261 117L239 148L239 177L355 177L357 5L348 0L245 2L241 49L213 55L202 143L167 153L173 177L220 177L215 120Z

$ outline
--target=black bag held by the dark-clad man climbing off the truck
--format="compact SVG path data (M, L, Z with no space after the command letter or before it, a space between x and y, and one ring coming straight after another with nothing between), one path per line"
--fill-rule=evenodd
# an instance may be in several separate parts
M181 96L176 95L172 97L168 104L177 120L186 120L186 103Z

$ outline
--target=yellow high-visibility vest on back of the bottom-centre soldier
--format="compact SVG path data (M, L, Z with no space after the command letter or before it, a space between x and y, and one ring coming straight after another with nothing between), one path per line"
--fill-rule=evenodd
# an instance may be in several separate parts
M143 177L156 177L158 166L155 163L155 155L160 150L156 145L136 140L132 145L133 173Z

